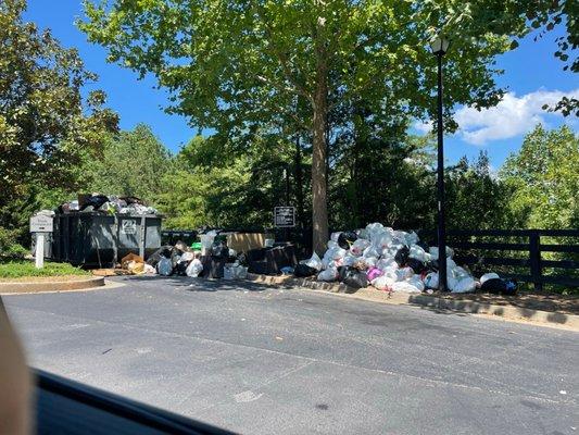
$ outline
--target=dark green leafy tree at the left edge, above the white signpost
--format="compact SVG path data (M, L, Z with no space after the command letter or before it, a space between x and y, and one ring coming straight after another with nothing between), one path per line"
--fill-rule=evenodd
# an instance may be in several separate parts
M25 23L25 8L0 0L0 226L12 237L26 235L37 186L75 185L79 162L117 123L103 92L83 98L96 76L77 51Z

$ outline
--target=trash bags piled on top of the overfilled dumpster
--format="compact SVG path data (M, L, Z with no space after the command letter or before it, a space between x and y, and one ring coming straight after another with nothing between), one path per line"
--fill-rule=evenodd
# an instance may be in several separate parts
M137 197L118 197L116 195L79 195L78 199L59 206L59 213L101 212L106 214L159 214L158 210L148 207Z

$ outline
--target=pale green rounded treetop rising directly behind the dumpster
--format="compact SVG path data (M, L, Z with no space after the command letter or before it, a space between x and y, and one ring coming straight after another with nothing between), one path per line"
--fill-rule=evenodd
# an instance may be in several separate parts
M150 200L164 189L161 182L168 171L167 149L149 126L139 124L133 130L110 135L99 159L85 162L85 189Z

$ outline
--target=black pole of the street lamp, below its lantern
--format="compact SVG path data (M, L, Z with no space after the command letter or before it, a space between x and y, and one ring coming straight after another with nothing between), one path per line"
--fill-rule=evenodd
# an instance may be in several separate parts
M444 152L442 125L442 52L438 59L438 289L446 291L446 223L444 217Z

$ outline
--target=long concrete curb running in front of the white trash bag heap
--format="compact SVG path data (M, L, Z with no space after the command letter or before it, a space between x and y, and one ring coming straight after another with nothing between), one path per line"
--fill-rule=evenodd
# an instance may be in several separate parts
M309 278L298 278L294 276L266 276L248 274L248 279L256 283L284 285L288 287L307 288L328 293L349 293L348 286L341 283L320 283ZM553 311L541 311L524 307L500 306L473 300L444 299L425 294L388 294L373 288L362 288L351 295L356 299L370 300L382 303L420 306L437 310L451 310L469 314L498 315L504 320L527 320L537 323L547 323L552 325L564 325L579 331L579 315L564 314Z

